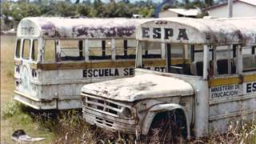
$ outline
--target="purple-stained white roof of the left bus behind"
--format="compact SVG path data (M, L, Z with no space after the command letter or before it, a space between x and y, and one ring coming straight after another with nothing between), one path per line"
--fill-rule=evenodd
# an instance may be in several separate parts
M135 25L146 19L129 18L23 18L18 37L135 38Z

